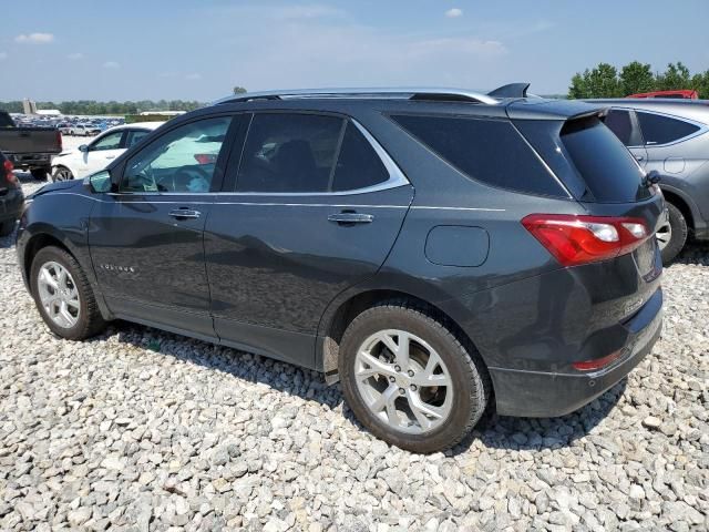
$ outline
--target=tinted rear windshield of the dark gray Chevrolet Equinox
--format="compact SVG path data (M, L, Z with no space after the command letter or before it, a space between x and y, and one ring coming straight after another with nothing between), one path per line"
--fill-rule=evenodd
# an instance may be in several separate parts
M630 203L650 197L633 155L597 117L566 122L561 137L597 202Z

